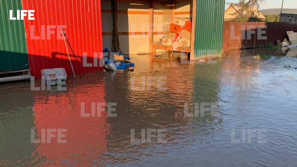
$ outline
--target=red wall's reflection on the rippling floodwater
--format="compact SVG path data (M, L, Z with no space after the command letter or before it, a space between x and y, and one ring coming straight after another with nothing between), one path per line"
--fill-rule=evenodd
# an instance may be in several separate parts
M37 143L32 156L38 154L36 161L43 165L102 161L97 155L106 151L107 115L81 117L81 103L85 103L86 113L91 113L91 103L105 103L103 74L85 74L76 81L70 78L66 86L64 92L33 91L37 138L42 137L42 129L67 129L67 143L58 143L56 138L51 143Z

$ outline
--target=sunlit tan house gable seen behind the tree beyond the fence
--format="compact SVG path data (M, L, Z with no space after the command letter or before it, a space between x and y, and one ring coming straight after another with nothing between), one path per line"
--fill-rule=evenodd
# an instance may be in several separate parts
M238 17L239 11L241 10L242 6L231 4L226 10L225 10L225 20L232 20ZM255 17L259 19L265 19L266 17L260 13L255 7L250 7L252 11L255 13ZM247 12L244 11L243 14L246 14Z

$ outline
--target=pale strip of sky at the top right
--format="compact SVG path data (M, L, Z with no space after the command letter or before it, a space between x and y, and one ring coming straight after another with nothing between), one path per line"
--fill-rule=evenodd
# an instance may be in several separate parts
M237 3L239 0L226 0L226 2ZM283 0L266 0L260 4L260 9L282 8ZM225 8L228 8L226 4ZM284 8L297 9L297 0L284 0Z

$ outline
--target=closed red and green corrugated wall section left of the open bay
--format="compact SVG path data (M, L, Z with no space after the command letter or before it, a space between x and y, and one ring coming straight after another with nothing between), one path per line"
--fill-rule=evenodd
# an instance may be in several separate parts
M35 10L35 20L9 19L9 10L16 17L22 9ZM102 59L100 1L0 0L0 13L0 72L30 67L32 76L40 78L42 69L65 68L71 75L64 40L57 38L62 30L75 73L103 71L103 67L83 67L84 52L88 63L94 62L94 52Z

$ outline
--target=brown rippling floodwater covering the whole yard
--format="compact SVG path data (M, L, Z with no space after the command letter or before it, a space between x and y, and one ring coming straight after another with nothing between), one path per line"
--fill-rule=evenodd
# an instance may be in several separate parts
M190 65L135 55L134 71L70 77L66 91L31 91L30 82L1 84L0 166L294 167L297 57L255 59L254 51L246 53ZM142 77L167 79L158 87ZM91 103L116 103L117 116L105 111L81 117L82 103L85 113L91 113ZM189 117L195 103L216 110ZM41 139L43 129L66 129L66 143L55 132L50 143L48 136L32 142L31 129L33 139ZM150 142L146 137L132 143L131 131L138 141L142 129L165 130L165 141L152 132Z

